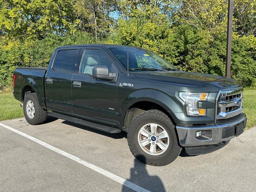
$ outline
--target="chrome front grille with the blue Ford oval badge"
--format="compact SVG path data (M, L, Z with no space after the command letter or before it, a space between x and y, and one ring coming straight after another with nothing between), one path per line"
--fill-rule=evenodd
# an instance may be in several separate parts
M226 119L242 113L242 94L242 88L221 90L216 99L216 119Z

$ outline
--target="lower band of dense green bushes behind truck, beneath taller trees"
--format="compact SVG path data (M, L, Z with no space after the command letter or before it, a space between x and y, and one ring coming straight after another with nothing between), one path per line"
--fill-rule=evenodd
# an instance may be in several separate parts
M154 22L152 22L154 21ZM114 43L140 46L156 52L177 68L189 72L225 75L226 34L188 24L170 27L167 18L129 18L120 20L108 38L96 42L91 34L76 32L42 40L0 42L0 89L12 85L16 67L46 67L57 46L71 44ZM256 45L254 36L233 37L231 77L244 87L256 86Z

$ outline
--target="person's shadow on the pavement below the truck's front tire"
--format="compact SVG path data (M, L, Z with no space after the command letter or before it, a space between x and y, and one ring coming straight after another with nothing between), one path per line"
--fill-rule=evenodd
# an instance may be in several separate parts
M145 159L144 156L138 156L140 159ZM151 192L166 192L162 180L158 176L151 176L146 170L146 164L140 162L137 159L134 159L134 167L130 169L130 178L127 180L138 186L145 188ZM125 182L122 188L122 192L133 191L130 188L126 187Z

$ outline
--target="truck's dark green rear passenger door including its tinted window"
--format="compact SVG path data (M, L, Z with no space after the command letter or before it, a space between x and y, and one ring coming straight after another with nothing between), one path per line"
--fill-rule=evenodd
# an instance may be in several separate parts
M80 49L59 49L45 76L45 98L49 110L72 113L72 76Z

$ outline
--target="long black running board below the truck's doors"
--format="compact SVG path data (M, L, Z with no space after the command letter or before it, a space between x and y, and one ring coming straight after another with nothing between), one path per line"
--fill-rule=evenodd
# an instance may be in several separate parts
M87 126L87 127L90 127L90 128L98 129L98 130L108 132L108 133L120 133L121 132L120 129L117 129L117 128L114 128L114 127L110 127L110 126L106 126L106 125L102 125L102 124L82 120L82 119L79 119L79 118L67 116L67 115L64 115L64 114L56 113L56 112L49 112L47 115L58 118L58 119L63 119L63 120L66 120L66 121L69 121L69 122L72 122L72 123Z

